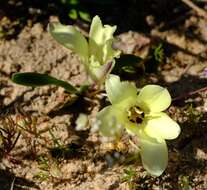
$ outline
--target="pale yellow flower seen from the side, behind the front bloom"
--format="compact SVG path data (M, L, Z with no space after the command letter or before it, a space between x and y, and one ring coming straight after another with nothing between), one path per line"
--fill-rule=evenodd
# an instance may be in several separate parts
M80 57L93 81L102 82L113 68L114 58L120 55L112 48L116 26L103 26L98 16L92 20L89 40L74 26L51 23L48 29L55 40Z

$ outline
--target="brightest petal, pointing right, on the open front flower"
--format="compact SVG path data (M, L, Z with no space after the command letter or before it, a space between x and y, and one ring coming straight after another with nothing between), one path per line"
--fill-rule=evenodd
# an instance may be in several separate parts
M144 130L151 137L175 139L180 134L180 126L166 113L154 114L145 122Z

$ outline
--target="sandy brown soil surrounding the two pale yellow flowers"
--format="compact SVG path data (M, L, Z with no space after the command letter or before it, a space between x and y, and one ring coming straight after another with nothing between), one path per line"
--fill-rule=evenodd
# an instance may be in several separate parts
M186 95L207 85L203 73L207 67L206 28L206 21L191 16L176 30L161 32L154 27L149 35L130 31L118 36L117 47L125 53L146 57L160 42L165 50L156 74L135 78L137 86L157 83L170 90L175 100L168 112L182 128L178 139L168 141L169 165L158 178L147 175L139 158L128 162L132 159L129 144L123 143L121 148L103 144L90 126L75 130L80 112L94 115L101 108L102 94L63 107L72 99L63 89L33 89L10 80L12 73L31 71L80 85L86 74L76 55L57 44L40 23L25 26L16 39L2 39L1 120L8 115L14 122L20 116L27 118L31 129L36 126L41 131L41 137L15 129L21 131L16 146L1 156L1 189L14 185L14 189L127 190L130 183L124 175L129 168L136 174L130 179L134 189L207 189L207 92Z

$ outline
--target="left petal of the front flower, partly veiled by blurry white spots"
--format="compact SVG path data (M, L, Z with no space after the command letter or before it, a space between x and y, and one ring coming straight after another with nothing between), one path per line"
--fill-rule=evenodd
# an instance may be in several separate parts
M100 134L107 137L120 137L124 122L123 112L114 107L107 106L97 114Z

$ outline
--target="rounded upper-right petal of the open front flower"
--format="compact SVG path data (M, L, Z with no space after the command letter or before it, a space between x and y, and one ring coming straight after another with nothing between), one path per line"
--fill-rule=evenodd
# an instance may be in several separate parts
M145 112L161 112L170 106L171 97L166 88L146 85L141 89L137 101Z

